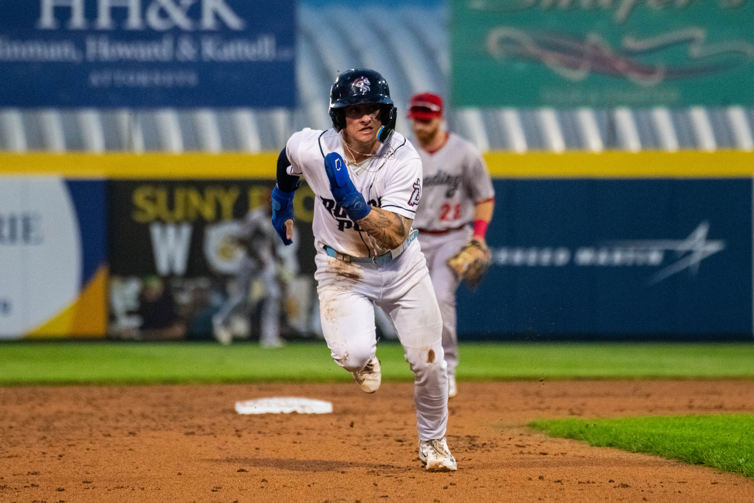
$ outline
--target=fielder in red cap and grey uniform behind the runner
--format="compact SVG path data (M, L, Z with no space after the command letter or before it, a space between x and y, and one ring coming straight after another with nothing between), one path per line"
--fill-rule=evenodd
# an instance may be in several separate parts
M412 131L421 146L418 154L424 172L424 194L414 226L443 316L448 396L455 397L455 290L462 279L474 287L489 264L484 235L492 219L495 190L477 148L440 127L442 98L431 93L417 94L411 99L408 118L412 119Z

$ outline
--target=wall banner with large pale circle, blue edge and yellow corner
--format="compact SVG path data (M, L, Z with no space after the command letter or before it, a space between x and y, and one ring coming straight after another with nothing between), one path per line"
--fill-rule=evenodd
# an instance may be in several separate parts
M106 182L3 176L0 339L106 333Z

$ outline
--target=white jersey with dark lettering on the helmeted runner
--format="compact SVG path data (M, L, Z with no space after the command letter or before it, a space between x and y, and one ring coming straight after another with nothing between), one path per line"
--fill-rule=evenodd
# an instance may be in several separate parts
M348 218L329 190L324 158L338 152L344 159L341 134L334 129L293 134L286 146L290 175L304 176L314 191L314 246L333 247L351 256L379 256L388 253L375 238ZM358 166L348 166L348 175L368 204L413 219L421 197L421 159L412 144L399 133L379 147L377 155Z

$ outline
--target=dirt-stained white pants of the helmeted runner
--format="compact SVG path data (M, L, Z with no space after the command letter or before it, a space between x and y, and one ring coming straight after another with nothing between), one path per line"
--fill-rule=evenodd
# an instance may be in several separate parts
M418 243L392 262L348 263L320 250L315 258L322 332L333 360L350 372L366 367L376 350L374 302L391 317L414 373L420 440L445 436L448 376L440 308Z

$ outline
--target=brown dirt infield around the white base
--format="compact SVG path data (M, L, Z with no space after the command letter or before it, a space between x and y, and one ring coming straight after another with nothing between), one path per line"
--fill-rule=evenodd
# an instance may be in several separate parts
M238 416L303 396L321 416ZM752 381L462 382L455 474L417 458L412 385L0 388L0 501L754 501L754 480L550 439L555 416L754 412Z

